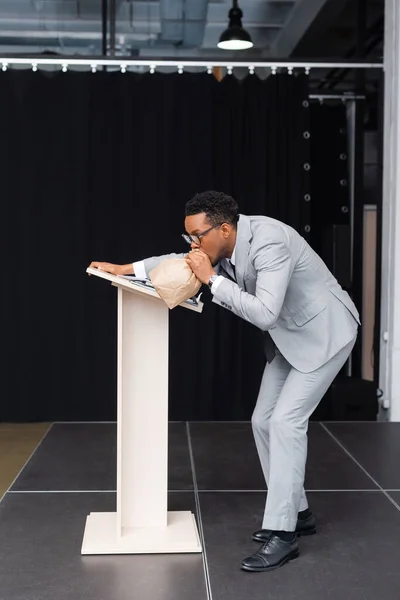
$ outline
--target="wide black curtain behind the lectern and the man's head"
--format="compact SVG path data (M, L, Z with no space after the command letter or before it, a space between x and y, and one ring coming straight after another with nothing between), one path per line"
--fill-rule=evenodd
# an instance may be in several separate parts
M85 269L184 251L194 193L308 237L307 95L283 74L1 74L0 420L115 418L116 293ZM259 332L203 298L171 311L170 419L247 419Z

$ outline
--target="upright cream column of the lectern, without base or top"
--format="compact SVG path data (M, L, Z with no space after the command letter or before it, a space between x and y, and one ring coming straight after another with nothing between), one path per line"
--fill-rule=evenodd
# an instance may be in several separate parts
M118 289L118 532L166 527L168 308Z

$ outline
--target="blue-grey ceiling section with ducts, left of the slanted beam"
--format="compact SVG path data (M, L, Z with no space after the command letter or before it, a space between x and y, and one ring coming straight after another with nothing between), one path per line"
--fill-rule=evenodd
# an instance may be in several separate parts
M258 51L276 40L297 3L301 0L242 0L244 24ZM223 53L216 44L227 26L230 0L115 0L115 5L117 54ZM101 0L0 0L0 51L101 54L101 11Z

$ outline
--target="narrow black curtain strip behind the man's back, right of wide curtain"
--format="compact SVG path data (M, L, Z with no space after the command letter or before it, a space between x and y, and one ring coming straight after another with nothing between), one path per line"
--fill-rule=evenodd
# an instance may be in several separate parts
M357 308L356 269L351 265L351 196L347 106L328 100L310 105L311 132L311 236L339 283L353 297ZM355 215L357 223L357 215ZM357 225L359 227L359 224ZM361 341L362 328L359 332ZM376 420L376 384L359 377L359 344L313 414L315 420ZM349 370L350 366L350 370ZM349 374L351 376L349 376Z

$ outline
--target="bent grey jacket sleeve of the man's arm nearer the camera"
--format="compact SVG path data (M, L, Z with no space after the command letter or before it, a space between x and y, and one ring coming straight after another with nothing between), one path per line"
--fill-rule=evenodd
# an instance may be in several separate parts
M213 302L231 310L262 331L277 321L293 271L289 248L283 241L269 242L255 251L252 259L256 270L255 296L225 279L218 286Z

